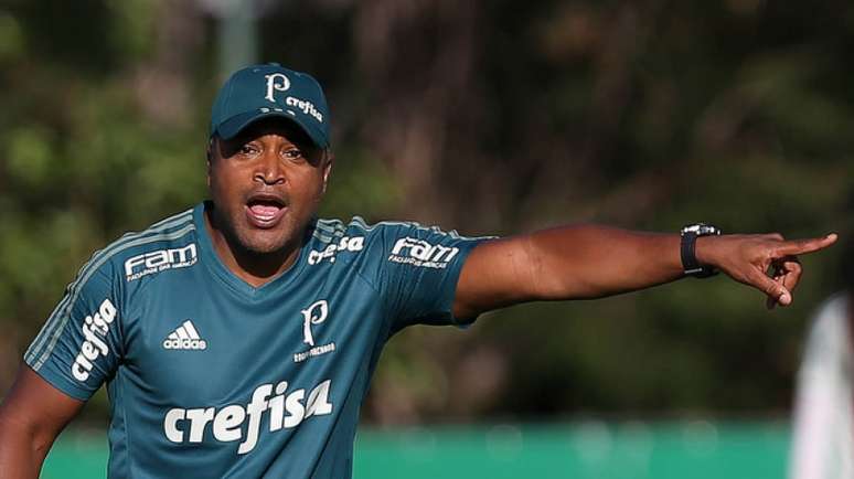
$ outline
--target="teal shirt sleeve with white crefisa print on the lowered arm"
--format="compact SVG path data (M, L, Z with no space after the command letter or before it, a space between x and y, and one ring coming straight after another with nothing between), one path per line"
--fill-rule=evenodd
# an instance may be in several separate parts
M109 264L97 258L68 285L24 354L42 379L81 401L115 374L121 355L118 281Z

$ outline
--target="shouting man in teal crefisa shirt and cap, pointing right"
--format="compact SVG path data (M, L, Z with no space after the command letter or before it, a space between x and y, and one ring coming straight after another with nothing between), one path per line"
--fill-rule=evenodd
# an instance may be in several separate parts
M532 300L595 298L718 268L787 306L796 255L835 235L565 226L503 240L314 219L329 111L309 75L236 72L212 111L211 200L96 253L0 409L3 477L36 477L104 382L111 478L343 478L386 340ZM770 278L766 270L773 267Z

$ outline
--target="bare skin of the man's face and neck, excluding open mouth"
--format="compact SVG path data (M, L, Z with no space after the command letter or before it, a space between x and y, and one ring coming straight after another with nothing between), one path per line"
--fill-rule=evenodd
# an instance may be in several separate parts
M288 269L327 191L332 157L287 120L258 121L235 138L213 141L207 156L213 211L205 217L214 248L235 275L258 287ZM285 209L271 227L247 216L257 195Z

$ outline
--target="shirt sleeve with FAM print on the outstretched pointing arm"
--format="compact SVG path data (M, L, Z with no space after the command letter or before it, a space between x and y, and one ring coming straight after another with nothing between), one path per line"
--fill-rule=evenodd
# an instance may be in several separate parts
M469 253L490 237L465 237L416 223L381 224L373 233L375 270L371 275L385 302L392 333L410 324L474 321L453 317L457 280Z

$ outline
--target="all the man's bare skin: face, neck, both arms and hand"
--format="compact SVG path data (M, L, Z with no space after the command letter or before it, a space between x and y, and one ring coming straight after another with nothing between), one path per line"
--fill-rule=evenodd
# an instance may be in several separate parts
M281 120L260 121L234 139L209 148L207 184L214 207L207 232L222 262L258 287L286 272L303 246L332 168L328 151L312 148ZM285 206L279 220L259 225L247 205L259 194ZM836 241L786 241L779 234L723 235L697 240L696 255L733 279L788 306L802 268L797 255ZM482 243L469 255L457 285L453 312L473 317L532 301L598 298L683 276L680 238L600 225L574 225ZM769 276L767 272L771 272ZM0 471L35 478L56 435L83 403L22 366L0 405Z

